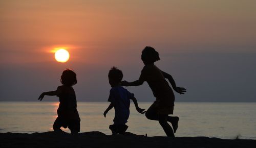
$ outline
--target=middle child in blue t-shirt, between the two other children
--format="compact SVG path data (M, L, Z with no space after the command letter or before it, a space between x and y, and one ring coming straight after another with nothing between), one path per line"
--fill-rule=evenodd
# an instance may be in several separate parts
M127 130L128 126L126 126L125 123L127 122L127 119L130 115L130 99L133 100L136 110L139 113L145 113L144 109L139 108L134 94L120 86L122 78L122 71L116 67L112 67L109 71L109 83L112 87L108 99L110 105L103 113L104 117L106 117L106 114L109 112L109 110L111 110L113 107L115 108L115 118L113 120L114 124L110 125L109 127L112 131L112 134L124 134Z

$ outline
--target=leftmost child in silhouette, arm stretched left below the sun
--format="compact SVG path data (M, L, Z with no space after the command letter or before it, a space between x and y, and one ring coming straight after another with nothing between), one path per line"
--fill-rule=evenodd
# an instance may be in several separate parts
M77 83L76 73L70 69L62 72L61 86L57 90L43 92L38 100L42 101L45 95L59 97L58 117L54 121L53 130L61 131L60 127L69 128L72 134L80 132L80 117L76 109L76 94L72 86Z

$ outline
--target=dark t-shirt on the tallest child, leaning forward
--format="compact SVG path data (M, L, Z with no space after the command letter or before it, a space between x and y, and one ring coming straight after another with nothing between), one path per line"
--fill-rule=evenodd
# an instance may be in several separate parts
M146 81L153 91L156 100L161 105L174 105L174 93L165 80L162 71L155 65L145 65L141 70L139 80Z

